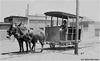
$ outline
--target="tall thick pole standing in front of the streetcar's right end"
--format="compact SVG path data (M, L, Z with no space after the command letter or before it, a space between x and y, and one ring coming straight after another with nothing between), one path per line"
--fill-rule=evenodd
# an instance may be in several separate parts
M75 51L74 54L78 55L78 21L79 21L79 0L76 0L76 39L75 39Z

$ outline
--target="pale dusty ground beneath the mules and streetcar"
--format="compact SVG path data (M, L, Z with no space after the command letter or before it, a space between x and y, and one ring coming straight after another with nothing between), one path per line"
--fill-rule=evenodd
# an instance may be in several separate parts
M40 45L36 46L36 53L18 54L18 44L13 40L0 40L0 61L100 61L100 40L82 41L79 44L78 55L74 55L73 48L58 47L50 49L45 44L40 53Z

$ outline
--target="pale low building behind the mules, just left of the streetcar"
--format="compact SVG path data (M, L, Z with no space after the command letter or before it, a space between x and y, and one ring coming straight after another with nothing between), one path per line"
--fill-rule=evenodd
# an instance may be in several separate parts
M29 15L30 28L43 28L50 26L50 19L46 20L45 16Z

